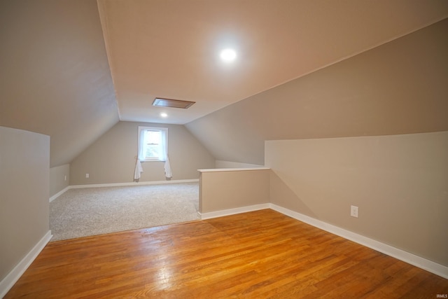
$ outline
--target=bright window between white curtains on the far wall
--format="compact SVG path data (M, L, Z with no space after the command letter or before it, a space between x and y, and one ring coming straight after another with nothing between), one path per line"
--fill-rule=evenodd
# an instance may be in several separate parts
M166 161L168 153L167 127L139 127L139 160Z

